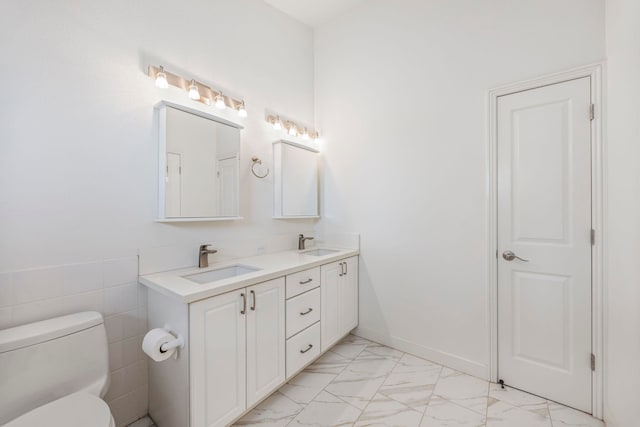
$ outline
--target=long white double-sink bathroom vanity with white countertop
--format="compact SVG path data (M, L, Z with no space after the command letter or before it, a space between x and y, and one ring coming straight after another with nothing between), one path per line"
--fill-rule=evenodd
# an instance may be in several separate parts
M231 424L358 324L358 251L285 251L140 277L148 327L184 338L149 362L158 427Z

